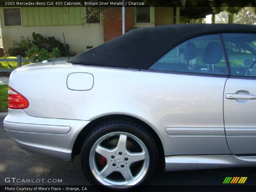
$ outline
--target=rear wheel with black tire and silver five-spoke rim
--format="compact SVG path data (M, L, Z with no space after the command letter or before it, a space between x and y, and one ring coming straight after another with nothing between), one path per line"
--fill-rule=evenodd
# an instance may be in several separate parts
M122 145L124 141L125 145ZM122 150L122 146L123 148L126 146L126 150ZM100 151L101 154L105 154L104 156L96 152L102 147L107 149ZM113 149L116 149L116 153L109 151ZM143 154L145 159L143 159ZM136 162L131 163L135 160ZM153 137L139 124L129 121L109 121L92 128L81 149L84 175L93 185L101 189L123 188L130 190L136 186L147 184L156 173L158 160L158 150ZM103 169L106 170L106 174L103 174L105 173L102 171ZM103 178L113 170L115 170L113 173Z

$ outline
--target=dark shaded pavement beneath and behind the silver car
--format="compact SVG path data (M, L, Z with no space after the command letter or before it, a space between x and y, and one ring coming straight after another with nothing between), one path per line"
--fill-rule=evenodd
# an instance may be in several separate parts
M3 128L4 116L0 113L0 185L29 185L29 183L18 182L6 183L5 178L7 177L44 179L44 182L48 179L62 180L61 183L38 182L33 183L33 185L90 185L80 167L80 156L76 156L74 162L69 163L27 152L15 146ZM225 177L235 176L248 177L243 185L256 185L256 168L160 171L155 175L150 185L172 185L170 187L174 185L220 185L219 187L222 188L225 185L222 184Z

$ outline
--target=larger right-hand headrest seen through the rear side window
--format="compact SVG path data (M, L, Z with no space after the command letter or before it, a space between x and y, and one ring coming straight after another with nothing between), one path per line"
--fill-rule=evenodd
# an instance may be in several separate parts
M203 63L214 65L219 63L223 53L220 43L210 42L204 50Z

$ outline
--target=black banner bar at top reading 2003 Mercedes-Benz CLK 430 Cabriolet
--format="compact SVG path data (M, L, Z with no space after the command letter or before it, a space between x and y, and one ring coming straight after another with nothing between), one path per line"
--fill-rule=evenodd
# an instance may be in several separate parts
M0 7L256 7L255 0L0 0Z

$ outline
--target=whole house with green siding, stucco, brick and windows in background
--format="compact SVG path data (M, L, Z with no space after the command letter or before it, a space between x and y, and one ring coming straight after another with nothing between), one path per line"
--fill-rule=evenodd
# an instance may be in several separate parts
M69 44L70 52L79 53L122 35L122 8L105 7L102 17L85 17L88 7L1 7L0 47L6 51L12 41L32 32L43 36L55 36ZM212 14L211 8L196 10L180 7L125 8L125 31L132 28L166 24L202 22L205 15ZM82 23L84 25L82 26Z

